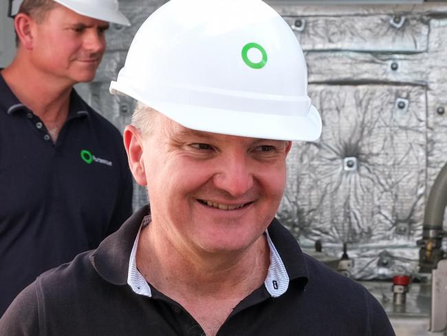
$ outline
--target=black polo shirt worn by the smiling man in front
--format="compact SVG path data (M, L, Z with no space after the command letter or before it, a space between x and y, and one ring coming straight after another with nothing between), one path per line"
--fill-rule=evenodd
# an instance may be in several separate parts
M129 286L131 251L148 213L140 209L95 251L39 276L0 319L0 335L205 335L188 311L153 286L150 297ZM285 273L277 278L285 288L276 296L266 278L233 308L217 336L395 336L363 286L302 253L277 220L268 234L277 253L270 260L285 269L269 273Z

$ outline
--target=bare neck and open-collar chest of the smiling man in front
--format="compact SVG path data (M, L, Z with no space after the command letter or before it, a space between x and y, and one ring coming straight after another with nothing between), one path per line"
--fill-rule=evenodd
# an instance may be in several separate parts
M181 304L209 336L217 333L244 297L263 284L270 249L262 235L246 251L199 256L173 246L149 224L140 233L136 259L146 281Z

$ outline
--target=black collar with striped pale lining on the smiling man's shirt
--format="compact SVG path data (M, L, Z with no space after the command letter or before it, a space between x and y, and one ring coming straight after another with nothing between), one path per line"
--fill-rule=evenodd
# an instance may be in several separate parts
M150 221L149 206L133 214L122 227L106 238L91 255L91 263L99 275L112 284L130 284L140 295L151 296L151 289L136 269L136 245L142 224ZM305 286L309 275L305 258L293 235L274 219L266 231L271 264L265 288L272 297L279 297L294 280ZM129 257L130 256L130 257Z

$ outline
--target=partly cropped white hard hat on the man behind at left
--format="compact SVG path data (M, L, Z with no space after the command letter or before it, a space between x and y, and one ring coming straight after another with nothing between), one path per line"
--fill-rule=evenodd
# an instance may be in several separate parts
M10 15L17 14L23 0L10 0ZM54 0L74 12L94 19L131 25L119 10L118 0Z

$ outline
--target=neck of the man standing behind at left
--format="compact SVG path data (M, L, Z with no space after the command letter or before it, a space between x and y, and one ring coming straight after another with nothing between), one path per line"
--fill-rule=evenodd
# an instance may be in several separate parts
M1 74L19 101L39 116L57 137L68 116L73 83L58 80L19 58Z

